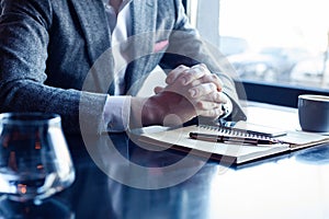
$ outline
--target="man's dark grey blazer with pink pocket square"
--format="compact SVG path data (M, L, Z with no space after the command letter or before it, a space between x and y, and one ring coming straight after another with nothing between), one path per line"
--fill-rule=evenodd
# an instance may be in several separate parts
M102 0L1 0L1 10L0 111L58 113L68 131L79 130L79 124L100 131L106 93L113 91ZM129 62L126 94L135 95L157 65L169 70L205 62L223 71L219 56L209 56L189 25L180 0L133 0L131 10L133 37L122 45ZM219 74L238 103L232 81ZM235 117L243 118L236 108Z

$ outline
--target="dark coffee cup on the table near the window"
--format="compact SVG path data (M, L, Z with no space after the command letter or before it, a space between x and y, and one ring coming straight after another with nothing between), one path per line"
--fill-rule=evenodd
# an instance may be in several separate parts
M303 94L298 96L299 125L305 131L329 131L329 96Z

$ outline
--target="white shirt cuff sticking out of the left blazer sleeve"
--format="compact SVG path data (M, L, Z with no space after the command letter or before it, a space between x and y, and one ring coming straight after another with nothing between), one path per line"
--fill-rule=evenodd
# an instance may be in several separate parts
M105 130L121 132L128 129L132 96L107 95L103 110Z

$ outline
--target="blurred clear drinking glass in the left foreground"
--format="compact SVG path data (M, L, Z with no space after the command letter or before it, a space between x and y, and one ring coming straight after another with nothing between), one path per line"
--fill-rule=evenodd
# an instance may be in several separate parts
M0 194L41 203L73 181L59 115L0 114Z

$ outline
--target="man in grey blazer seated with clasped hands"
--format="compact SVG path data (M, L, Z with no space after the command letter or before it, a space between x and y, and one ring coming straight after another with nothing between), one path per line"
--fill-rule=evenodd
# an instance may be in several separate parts
M1 0L1 112L58 113L66 131L98 134L217 118L225 103L245 119L180 0ZM168 85L135 97L157 65Z

